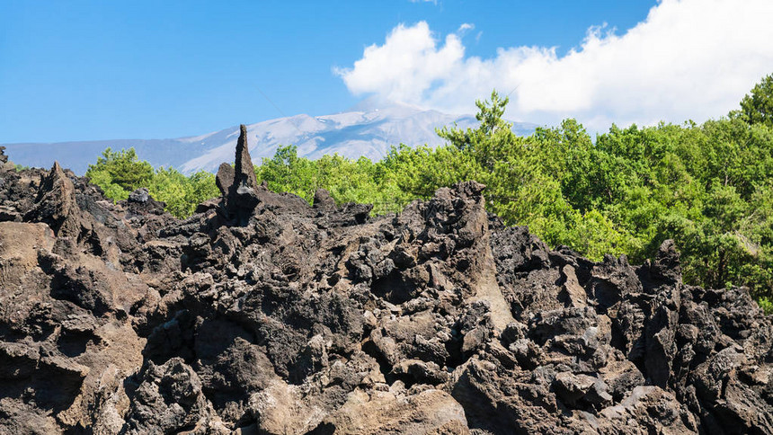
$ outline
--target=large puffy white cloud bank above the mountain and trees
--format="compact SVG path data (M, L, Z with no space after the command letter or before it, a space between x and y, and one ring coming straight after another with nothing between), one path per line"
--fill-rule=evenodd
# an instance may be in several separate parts
M351 93L442 111L473 112L493 88L511 93L507 116L554 124L567 117L590 129L611 122L706 120L737 107L773 73L770 0L662 0L624 34L591 27L579 48L497 49L466 57L458 34L440 41L426 22L400 24L351 68L337 68Z

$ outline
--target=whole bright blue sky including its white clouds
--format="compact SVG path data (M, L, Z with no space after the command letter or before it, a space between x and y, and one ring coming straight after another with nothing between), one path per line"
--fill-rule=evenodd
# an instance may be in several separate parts
M770 0L0 0L0 143L175 138L387 99L705 120L773 73ZM276 107L275 107L276 106Z

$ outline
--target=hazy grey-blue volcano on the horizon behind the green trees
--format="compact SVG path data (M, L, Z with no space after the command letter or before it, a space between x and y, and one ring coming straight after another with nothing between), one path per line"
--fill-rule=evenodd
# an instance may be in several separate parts
M324 116L296 115L265 120L247 126L250 153L259 164L262 157L271 157L279 146L298 146L298 154L317 158L338 153L357 158L365 155L379 160L389 147L403 143L408 146L443 143L435 128L453 125L475 127L472 115L451 115L424 110L402 103L382 104L365 100L350 111ZM513 123L513 131L528 135L537 126ZM234 159L238 126L209 134L172 139L115 139L58 143L3 144L16 164L48 168L59 164L83 174L89 164L110 146L113 150L134 147L143 160L154 166L173 166L183 173L199 170L215 172L222 162Z

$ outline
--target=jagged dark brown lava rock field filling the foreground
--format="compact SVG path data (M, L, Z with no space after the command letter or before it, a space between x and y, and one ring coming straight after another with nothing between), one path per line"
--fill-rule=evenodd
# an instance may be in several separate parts
M401 213L251 175L189 219L0 174L2 433L771 433L771 322L679 254L590 262L463 182Z

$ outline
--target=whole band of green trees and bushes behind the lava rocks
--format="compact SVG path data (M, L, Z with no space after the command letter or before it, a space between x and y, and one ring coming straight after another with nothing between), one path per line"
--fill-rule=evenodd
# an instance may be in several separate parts
M507 225L527 225L547 244L600 260L626 254L642 262L672 238L684 279L712 288L747 286L773 312L773 75L742 101L742 111L697 125L635 125L591 139L576 120L516 136L503 120L508 102L493 92L476 102L476 129L438 129L448 146L393 146L379 162L298 156L281 146L255 167L273 191L311 202L317 189L339 203L402 209L438 188L476 180L486 207ZM215 196L213 177L153 171L133 150L106 150L89 168L113 199L147 185L175 216Z

